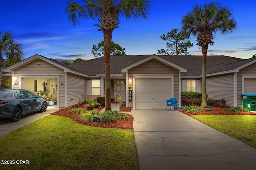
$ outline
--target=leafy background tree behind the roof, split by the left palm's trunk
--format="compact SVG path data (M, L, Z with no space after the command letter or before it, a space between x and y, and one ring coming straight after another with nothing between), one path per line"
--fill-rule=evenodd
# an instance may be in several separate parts
M92 46L92 54L95 58L98 57L104 57L104 41L101 41L97 45ZM122 49L122 47L119 44L114 43L114 41L111 41L111 50L110 55L126 55L125 54L125 48Z

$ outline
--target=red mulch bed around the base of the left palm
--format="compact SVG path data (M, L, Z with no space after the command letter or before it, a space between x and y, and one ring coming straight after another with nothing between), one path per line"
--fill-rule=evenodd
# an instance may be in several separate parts
M72 108L79 108L79 107L84 109L84 110L87 110L86 107L84 107L84 104L80 104L80 105L76 105L76 106L73 106L73 107L70 107L70 108L61 109L59 111L56 111L56 112L52 113L51 115L61 115L61 116L70 117L71 119L73 119L74 121L76 121L77 123L80 123L82 125L133 130L133 123L132 122L134 120L134 117L132 115L129 115L130 121L116 120L113 123L100 123L100 122L84 123L84 122L81 121L80 115L73 114L70 111L70 109L72 109ZM97 108L94 108L94 110L95 109L97 109ZM98 108L98 110L101 110L101 109L102 108ZM124 109L128 110L128 108L124 108Z

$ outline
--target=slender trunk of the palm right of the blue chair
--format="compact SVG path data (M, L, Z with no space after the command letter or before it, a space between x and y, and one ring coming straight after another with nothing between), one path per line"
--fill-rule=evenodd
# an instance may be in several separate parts
M206 104L206 57L207 57L208 44L202 46L203 53L203 66L202 66L202 102L201 106L207 106Z

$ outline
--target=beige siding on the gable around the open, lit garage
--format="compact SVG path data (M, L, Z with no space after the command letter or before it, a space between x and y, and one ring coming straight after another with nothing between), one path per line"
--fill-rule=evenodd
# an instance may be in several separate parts
M38 65L40 63L40 65ZM22 66L14 71L14 77L19 79L20 75L41 75L41 76L50 76L50 75L59 75L60 76L60 83L65 82L64 77L64 70L49 64L43 60L36 60L31 63L26 64L25 66ZM19 88L18 86L15 86L14 88ZM64 86L58 85L58 90L60 92L60 96L58 96L58 100L60 102L60 107L64 107Z

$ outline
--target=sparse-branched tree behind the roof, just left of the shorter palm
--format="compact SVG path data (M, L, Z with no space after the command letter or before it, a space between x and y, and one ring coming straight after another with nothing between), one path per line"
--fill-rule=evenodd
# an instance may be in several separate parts
M172 29L166 35L160 36L164 41L167 41L166 48L160 49L157 51L158 54L162 55L189 55L188 48L193 46L193 43L190 43L188 37L184 35L182 31L178 32L179 29Z

